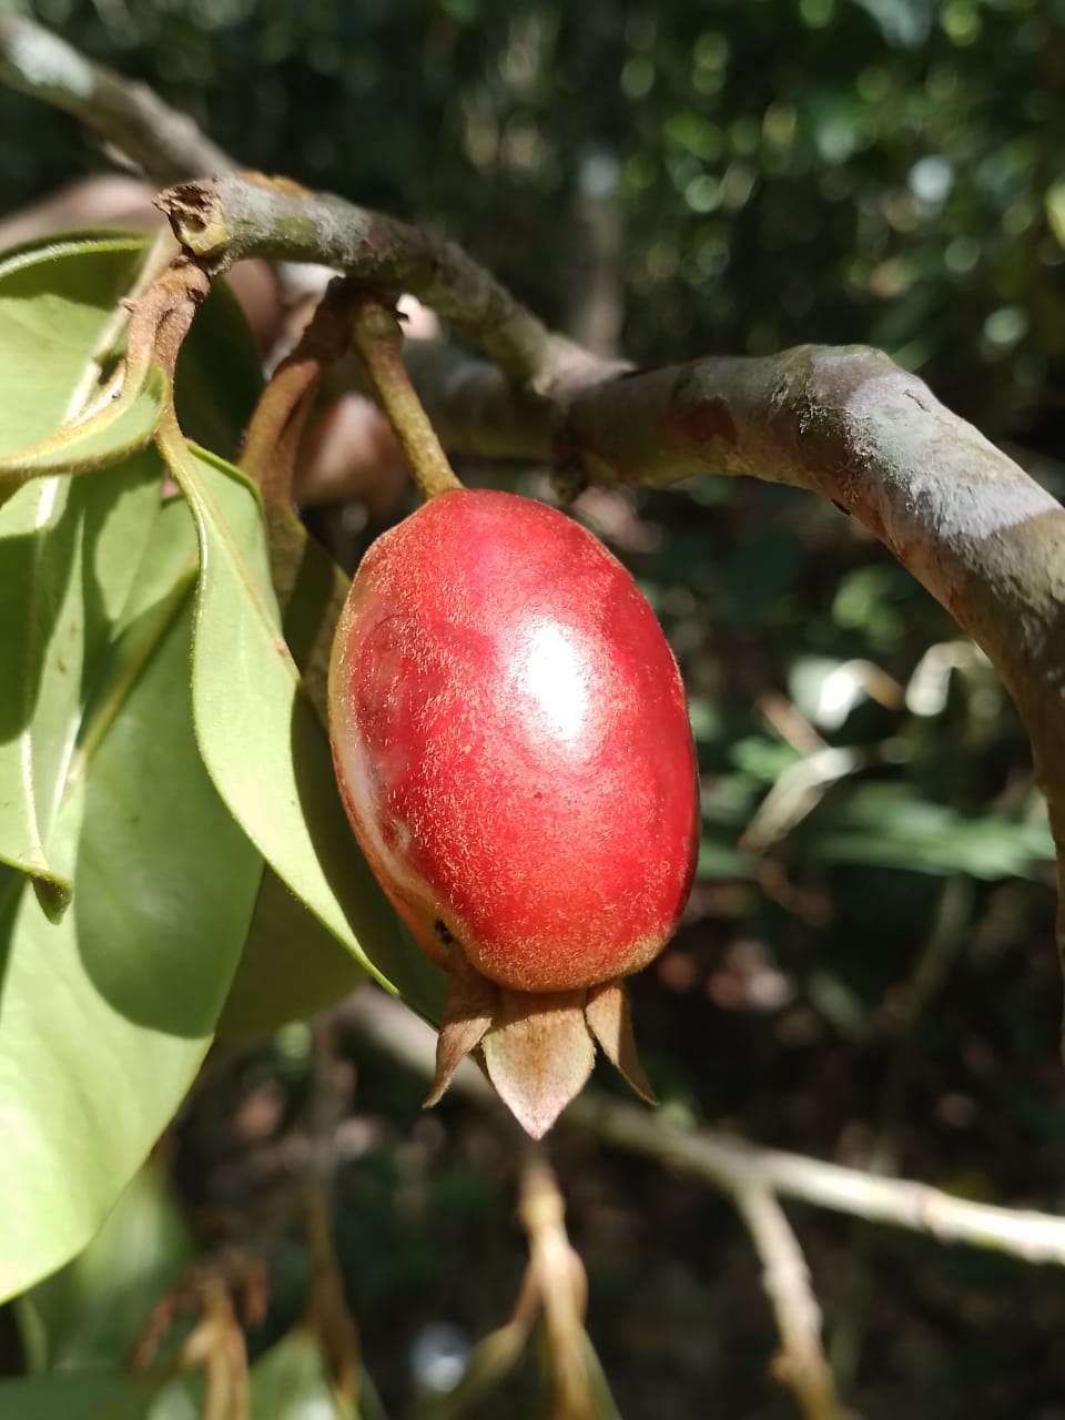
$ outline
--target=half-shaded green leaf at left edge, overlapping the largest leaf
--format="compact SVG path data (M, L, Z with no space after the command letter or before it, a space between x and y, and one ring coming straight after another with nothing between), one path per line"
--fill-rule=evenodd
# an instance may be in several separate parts
M41 479L0 507L0 861L58 916L48 836L85 700L159 508L149 450L91 479Z

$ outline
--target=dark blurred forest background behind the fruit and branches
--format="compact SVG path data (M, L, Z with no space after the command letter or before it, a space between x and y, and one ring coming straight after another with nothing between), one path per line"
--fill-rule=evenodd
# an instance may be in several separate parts
M446 230L599 348L656 364L880 345L1065 488L1061 0L23 9L248 166ZM6 210L101 166L71 121L0 91ZM470 473L550 496L537 470ZM990 667L809 497L706 479L595 491L578 513L666 626L703 770L692 907L632 990L663 1100L775 1146L1061 1207L1049 841ZM761 851L743 851L760 805ZM169 1146L202 1238L239 1234L290 1186L311 1066L298 1030L213 1058ZM368 1367L403 1414L420 1329L481 1335L517 1288L508 1136L462 1100L422 1116L422 1082L355 1034L332 1068L351 1092L341 1260ZM564 1127L554 1156L625 1416L788 1414L730 1208ZM862 1414L1065 1417L1059 1272L794 1217ZM298 1235L268 1254L256 1345L295 1318L307 1274ZM531 1375L484 1409L504 1413L540 1413Z

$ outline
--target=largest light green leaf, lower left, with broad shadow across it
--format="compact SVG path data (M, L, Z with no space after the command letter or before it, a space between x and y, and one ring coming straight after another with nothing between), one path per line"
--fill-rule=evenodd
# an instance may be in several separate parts
M261 862L192 731L183 504L156 521L54 826L74 902L0 903L0 1298L80 1251L172 1118L210 1042ZM146 581L145 581L146 579ZM158 588L156 588L158 589Z

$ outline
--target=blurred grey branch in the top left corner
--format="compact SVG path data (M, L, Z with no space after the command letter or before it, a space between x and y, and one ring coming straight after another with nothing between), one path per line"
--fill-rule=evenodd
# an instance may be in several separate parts
M65 109L159 183L227 172L233 159L143 84L94 64L33 20L0 17L0 82Z

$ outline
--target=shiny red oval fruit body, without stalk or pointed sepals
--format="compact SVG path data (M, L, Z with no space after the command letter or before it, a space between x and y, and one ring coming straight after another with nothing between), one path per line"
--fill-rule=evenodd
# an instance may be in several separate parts
M359 843L447 970L568 993L665 946L699 839L683 686L632 577L564 514L462 490L381 537L329 727Z

